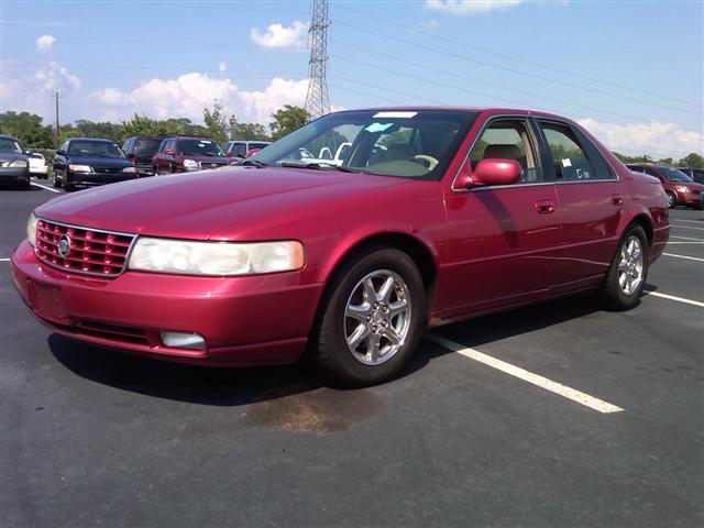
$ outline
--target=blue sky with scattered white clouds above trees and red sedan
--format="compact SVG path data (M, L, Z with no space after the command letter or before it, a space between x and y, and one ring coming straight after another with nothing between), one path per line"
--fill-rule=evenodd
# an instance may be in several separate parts
M307 87L309 1L0 4L0 109L268 122ZM620 152L704 151L702 1L331 1L333 108L520 107Z

